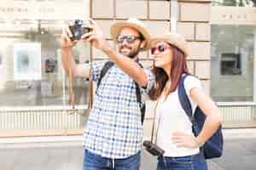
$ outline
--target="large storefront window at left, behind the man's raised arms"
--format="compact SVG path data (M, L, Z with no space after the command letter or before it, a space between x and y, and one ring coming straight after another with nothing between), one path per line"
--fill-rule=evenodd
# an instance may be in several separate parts
M69 82L61 66L59 20L2 23L0 106L69 105ZM73 49L76 62L89 60L88 44ZM88 104L88 81L75 79L75 105Z

